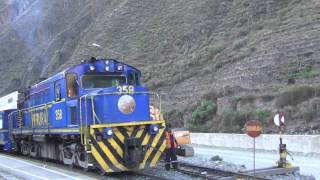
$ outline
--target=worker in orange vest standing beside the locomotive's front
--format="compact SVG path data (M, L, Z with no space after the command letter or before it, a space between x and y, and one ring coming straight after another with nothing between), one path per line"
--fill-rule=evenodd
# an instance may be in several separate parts
M165 168L167 171L170 170L170 164L174 169L178 168L178 161L177 161L177 148L178 142L171 131L171 126L168 125L166 128L166 163Z

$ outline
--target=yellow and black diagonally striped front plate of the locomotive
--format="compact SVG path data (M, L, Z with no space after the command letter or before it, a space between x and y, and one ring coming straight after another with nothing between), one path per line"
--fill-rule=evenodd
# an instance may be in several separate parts
M96 165L105 172L130 171L156 166L165 149L163 121L149 121L150 124L135 123L130 126L118 124L93 125L90 127L92 156ZM159 132L150 134L151 124L159 124ZM105 137L110 128L113 134Z

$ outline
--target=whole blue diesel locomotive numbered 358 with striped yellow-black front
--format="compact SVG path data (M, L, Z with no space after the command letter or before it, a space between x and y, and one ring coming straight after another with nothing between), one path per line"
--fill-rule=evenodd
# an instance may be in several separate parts
M156 166L165 122L150 112L160 98L140 78L125 63L91 58L31 86L4 114L6 147L102 173Z

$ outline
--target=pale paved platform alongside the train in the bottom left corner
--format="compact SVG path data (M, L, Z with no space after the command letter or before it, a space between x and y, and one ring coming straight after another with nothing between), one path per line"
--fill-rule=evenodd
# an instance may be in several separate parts
M40 163L0 154L0 179L80 180L93 178L72 171L62 171L53 167L49 168Z

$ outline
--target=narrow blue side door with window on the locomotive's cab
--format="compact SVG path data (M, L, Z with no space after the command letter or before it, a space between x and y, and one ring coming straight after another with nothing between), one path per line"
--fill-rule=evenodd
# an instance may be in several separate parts
M79 95L79 85L77 82L76 74L67 74L67 109L68 109L68 126L78 125L78 95Z

